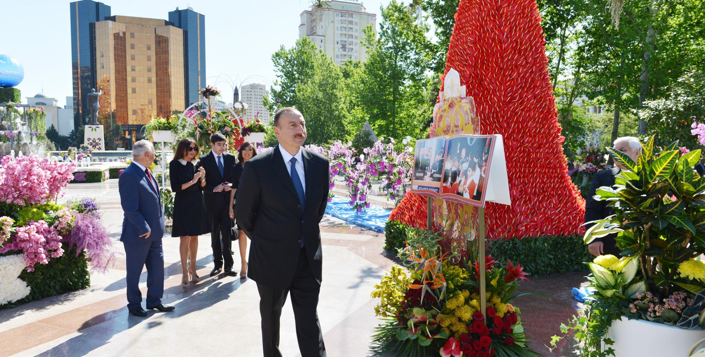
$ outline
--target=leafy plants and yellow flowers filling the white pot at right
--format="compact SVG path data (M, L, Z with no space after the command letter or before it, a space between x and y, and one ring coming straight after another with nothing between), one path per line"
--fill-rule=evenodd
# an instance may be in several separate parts
M705 253L705 177L692 169L701 151L684 154L678 142L654 147L654 137L642 149L634 161L608 148L627 170L615 177L614 187L601 187L594 196L608 201L615 215L594 221L584 241L616 233L622 258L599 256L587 263L594 301L583 317L563 327L580 330L586 356L605 356L600 344L613 343L605 339L608 327L623 316L705 327L705 263L696 260Z

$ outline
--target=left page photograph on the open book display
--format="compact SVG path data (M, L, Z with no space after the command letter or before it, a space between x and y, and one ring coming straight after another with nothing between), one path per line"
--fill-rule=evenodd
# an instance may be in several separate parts
M441 191L443 155L446 154L446 138L419 140L414 153L415 189Z

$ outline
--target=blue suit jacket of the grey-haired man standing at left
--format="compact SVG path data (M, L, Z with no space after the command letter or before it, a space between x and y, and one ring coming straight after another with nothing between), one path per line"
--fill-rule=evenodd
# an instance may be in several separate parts
M152 177L157 187L157 180ZM161 240L164 235L164 217L161 215L161 197L149 183L147 174L132 163L118 180L120 204L125 214L120 241L145 243ZM140 237L149 231L149 238Z

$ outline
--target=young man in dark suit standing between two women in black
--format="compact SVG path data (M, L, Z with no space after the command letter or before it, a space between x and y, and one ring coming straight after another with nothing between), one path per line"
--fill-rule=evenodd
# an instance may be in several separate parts
M227 141L223 134L216 132L211 135L212 150L201 156L196 170L201 166L206 169L206 185L203 187L203 201L211 223L211 248L213 249L213 264L211 276L221 272L225 263L227 275L237 275L233 269L231 251L230 190L233 177L235 155L226 152Z

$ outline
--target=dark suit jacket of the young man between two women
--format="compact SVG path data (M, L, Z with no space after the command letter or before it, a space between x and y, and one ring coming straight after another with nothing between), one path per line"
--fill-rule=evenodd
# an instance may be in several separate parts
M230 204L230 191L223 190L222 192L213 192L213 189L223 182L233 183L235 180L233 177L233 165L235 165L235 155L224 152L223 173L225 177L223 177L218 169L218 163L216 163L216 156L213 154L213 151L201 156L199 159L195 171L197 172L198 168L201 166L206 169L206 185L203 187L203 201L208 211L215 211L227 207L228 204Z

